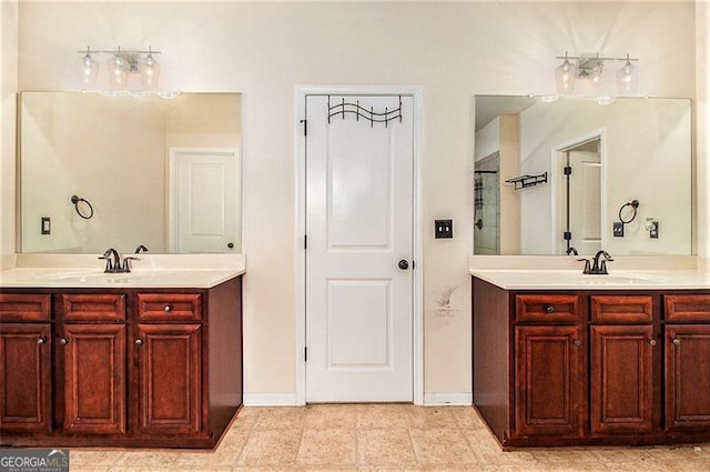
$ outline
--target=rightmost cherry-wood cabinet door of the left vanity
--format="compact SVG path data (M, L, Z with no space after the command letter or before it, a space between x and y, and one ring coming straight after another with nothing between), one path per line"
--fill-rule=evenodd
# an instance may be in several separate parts
M148 434L202 426L200 324L139 324L139 428Z

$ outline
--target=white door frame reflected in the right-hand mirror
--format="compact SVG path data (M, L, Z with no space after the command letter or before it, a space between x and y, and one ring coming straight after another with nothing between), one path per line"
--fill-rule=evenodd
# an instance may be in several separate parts
M566 175L562 172L562 162L566 159L565 153L574 149L580 144L592 141L595 139L599 139L599 161L601 162L601 245L604 247L607 241L605 227L606 218L607 218L607 129L606 127L599 128L596 130L591 130L587 133L579 134L574 139L567 140L555 145L551 150L550 157L550 185L551 185L551 224L550 224L550 253L555 254L564 254L565 248L557 238L562 231L564 224L562 220L565 215L562 210L566 203L562 203L565 199L565 190L566 190ZM557 252L561 251L561 252Z

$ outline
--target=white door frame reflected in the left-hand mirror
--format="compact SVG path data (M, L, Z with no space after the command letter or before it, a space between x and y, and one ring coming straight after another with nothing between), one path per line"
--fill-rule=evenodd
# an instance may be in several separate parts
M175 199L178 198L178 154L180 153L215 153L215 154L231 154L234 155L234 182L240 184L239 189L234 192L234 232L239 235L239 244L235 248L234 252L241 252L242 248L242 211L241 200L242 200L242 191L241 191L241 159L240 159L240 150L239 148L225 148L225 147L205 147L205 145L195 145L195 147L185 147L185 145L174 145L168 148L168 169L165 179L165 201L168 202L168 214L166 214L166 228L165 228L165 248L170 253L174 253L176 250L178 241L175 238L175 232L178 231L178 204Z

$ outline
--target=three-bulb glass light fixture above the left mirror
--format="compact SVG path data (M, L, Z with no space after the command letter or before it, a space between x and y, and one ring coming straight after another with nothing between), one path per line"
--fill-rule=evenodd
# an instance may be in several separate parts
M106 72L109 84L115 89L125 89L129 84L131 73L140 73L141 86L144 89L155 89L160 82L160 63L153 54L151 47L145 50L124 50L119 46L112 51L94 51L90 46L85 51L78 51L82 54L79 61L81 83L85 87L95 87L99 78L99 63L93 58L97 54L111 54L106 60Z

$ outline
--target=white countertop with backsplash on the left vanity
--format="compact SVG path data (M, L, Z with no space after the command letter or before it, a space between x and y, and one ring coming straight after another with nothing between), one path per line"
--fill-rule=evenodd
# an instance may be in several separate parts
M145 255L128 273L104 273L95 255L18 254L0 288L209 289L246 272L243 254Z

